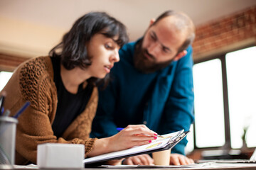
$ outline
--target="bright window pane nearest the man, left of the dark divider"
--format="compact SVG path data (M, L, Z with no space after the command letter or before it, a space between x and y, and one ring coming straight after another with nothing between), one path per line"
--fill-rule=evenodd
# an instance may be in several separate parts
M197 147L225 144L223 81L219 59L195 64L195 128Z

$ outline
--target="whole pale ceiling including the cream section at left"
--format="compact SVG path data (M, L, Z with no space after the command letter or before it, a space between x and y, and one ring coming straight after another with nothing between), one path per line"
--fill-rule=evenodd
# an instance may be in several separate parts
M255 5L256 0L0 0L0 53L46 55L90 11L122 21L132 41L144 34L151 18L169 9L187 13L200 26Z

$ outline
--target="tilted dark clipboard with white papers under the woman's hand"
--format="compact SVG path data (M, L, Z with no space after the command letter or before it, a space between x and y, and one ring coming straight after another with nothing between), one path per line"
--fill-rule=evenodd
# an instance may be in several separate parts
M171 149L184 137L186 137L186 135L188 135L188 132L189 131L184 132L184 130L180 130L178 132L161 135L163 137L158 137L158 139L152 141L149 144L86 158L83 160L83 163L95 164L97 162L105 162L112 159L122 159L125 157L133 157L139 154L150 154L152 152L159 152L166 149Z

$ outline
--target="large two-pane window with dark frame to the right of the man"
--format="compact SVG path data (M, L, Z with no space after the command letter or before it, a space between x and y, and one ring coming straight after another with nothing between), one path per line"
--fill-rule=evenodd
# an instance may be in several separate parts
M195 148L256 147L256 47L195 63ZM209 135L208 135L209 134Z

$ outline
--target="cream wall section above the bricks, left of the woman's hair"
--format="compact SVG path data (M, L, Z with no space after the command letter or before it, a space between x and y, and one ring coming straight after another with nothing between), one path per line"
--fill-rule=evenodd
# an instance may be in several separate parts
M36 57L47 55L67 30L0 17L0 52Z

